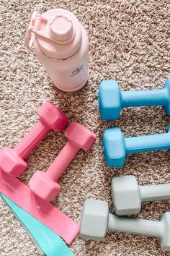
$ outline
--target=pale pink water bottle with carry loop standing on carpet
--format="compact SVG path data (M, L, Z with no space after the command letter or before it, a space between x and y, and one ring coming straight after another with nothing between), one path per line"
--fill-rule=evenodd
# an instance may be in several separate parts
M55 86L66 92L81 89L89 77L89 40L79 20L65 9L34 12L25 36L27 49L45 67Z

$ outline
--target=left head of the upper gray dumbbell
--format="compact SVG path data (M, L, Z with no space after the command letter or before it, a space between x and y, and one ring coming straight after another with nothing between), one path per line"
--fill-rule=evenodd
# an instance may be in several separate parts
M112 179L112 200L119 216L140 212L141 199L135 176L119 176Z

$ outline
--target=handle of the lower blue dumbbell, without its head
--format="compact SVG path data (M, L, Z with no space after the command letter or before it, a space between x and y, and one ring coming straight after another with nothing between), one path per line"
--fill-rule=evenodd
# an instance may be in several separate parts
M127 153L170 149L170 133L125 138Z

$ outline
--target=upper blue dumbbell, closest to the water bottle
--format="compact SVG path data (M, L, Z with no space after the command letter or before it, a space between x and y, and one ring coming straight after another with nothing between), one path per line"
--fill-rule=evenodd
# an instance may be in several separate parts
M170 78L159 90L121 91L115 80L104 80L99 86L99 111L104 120L117 119L123 107L161 105L170 115Z

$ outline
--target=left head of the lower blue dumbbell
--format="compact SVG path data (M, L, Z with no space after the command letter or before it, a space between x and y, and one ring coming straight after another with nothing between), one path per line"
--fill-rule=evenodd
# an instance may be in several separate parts
M125 163L125 138L118 127L108 128L103 133L104 158L110 167L120 167Z

